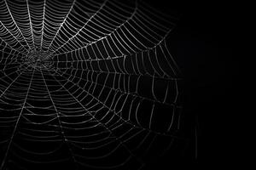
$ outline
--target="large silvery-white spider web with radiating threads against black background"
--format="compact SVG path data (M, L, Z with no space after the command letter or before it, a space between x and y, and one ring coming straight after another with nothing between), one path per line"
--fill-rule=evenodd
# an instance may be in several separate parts
M178 139L175 17L118 0L0 11L1 169L139 169Z

